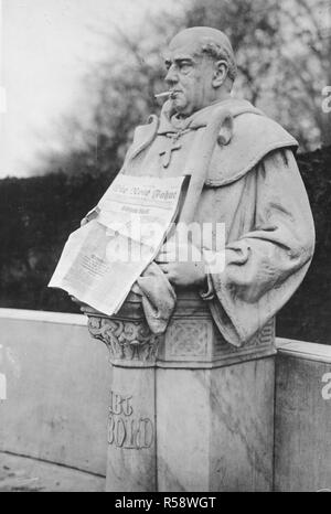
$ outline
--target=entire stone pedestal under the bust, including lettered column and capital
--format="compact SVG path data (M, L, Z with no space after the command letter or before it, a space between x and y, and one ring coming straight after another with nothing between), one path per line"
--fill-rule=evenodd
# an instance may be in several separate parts
M113 365L107 491L271 490L273 321L236 349L188 291L161 338L135 296L89 331Z

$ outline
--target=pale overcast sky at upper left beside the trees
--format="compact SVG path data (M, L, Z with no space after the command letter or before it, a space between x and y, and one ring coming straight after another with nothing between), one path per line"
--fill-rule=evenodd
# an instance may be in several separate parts
M26 176L38 152L54 144L61 114L73 107L84 72L104 51L92 26L132 30L162 0L0 0L0 179ZM1 98L1 95L0 95ZM1 100L0 100L1 101Z

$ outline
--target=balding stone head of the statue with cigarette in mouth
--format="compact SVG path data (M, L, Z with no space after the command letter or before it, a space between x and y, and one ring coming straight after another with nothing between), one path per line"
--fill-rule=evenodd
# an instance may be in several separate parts
M193 26L177 34L164 61L173 108L183 116L226 98L237 72L228 38L209 26Z

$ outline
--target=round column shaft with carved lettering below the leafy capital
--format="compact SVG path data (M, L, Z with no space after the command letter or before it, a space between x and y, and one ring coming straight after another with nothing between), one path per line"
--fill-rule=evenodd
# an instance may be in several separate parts
M157 491L154 368L114 366L106 491Z

